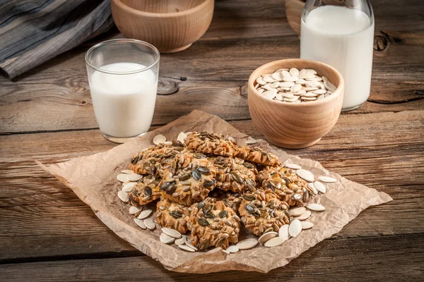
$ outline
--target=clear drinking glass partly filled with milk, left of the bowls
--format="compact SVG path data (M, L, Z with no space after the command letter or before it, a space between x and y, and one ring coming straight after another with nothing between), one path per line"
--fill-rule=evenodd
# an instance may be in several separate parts
M160 54L147 42L113 39L86 53L95 118L107 140L124 143L151 126Z

